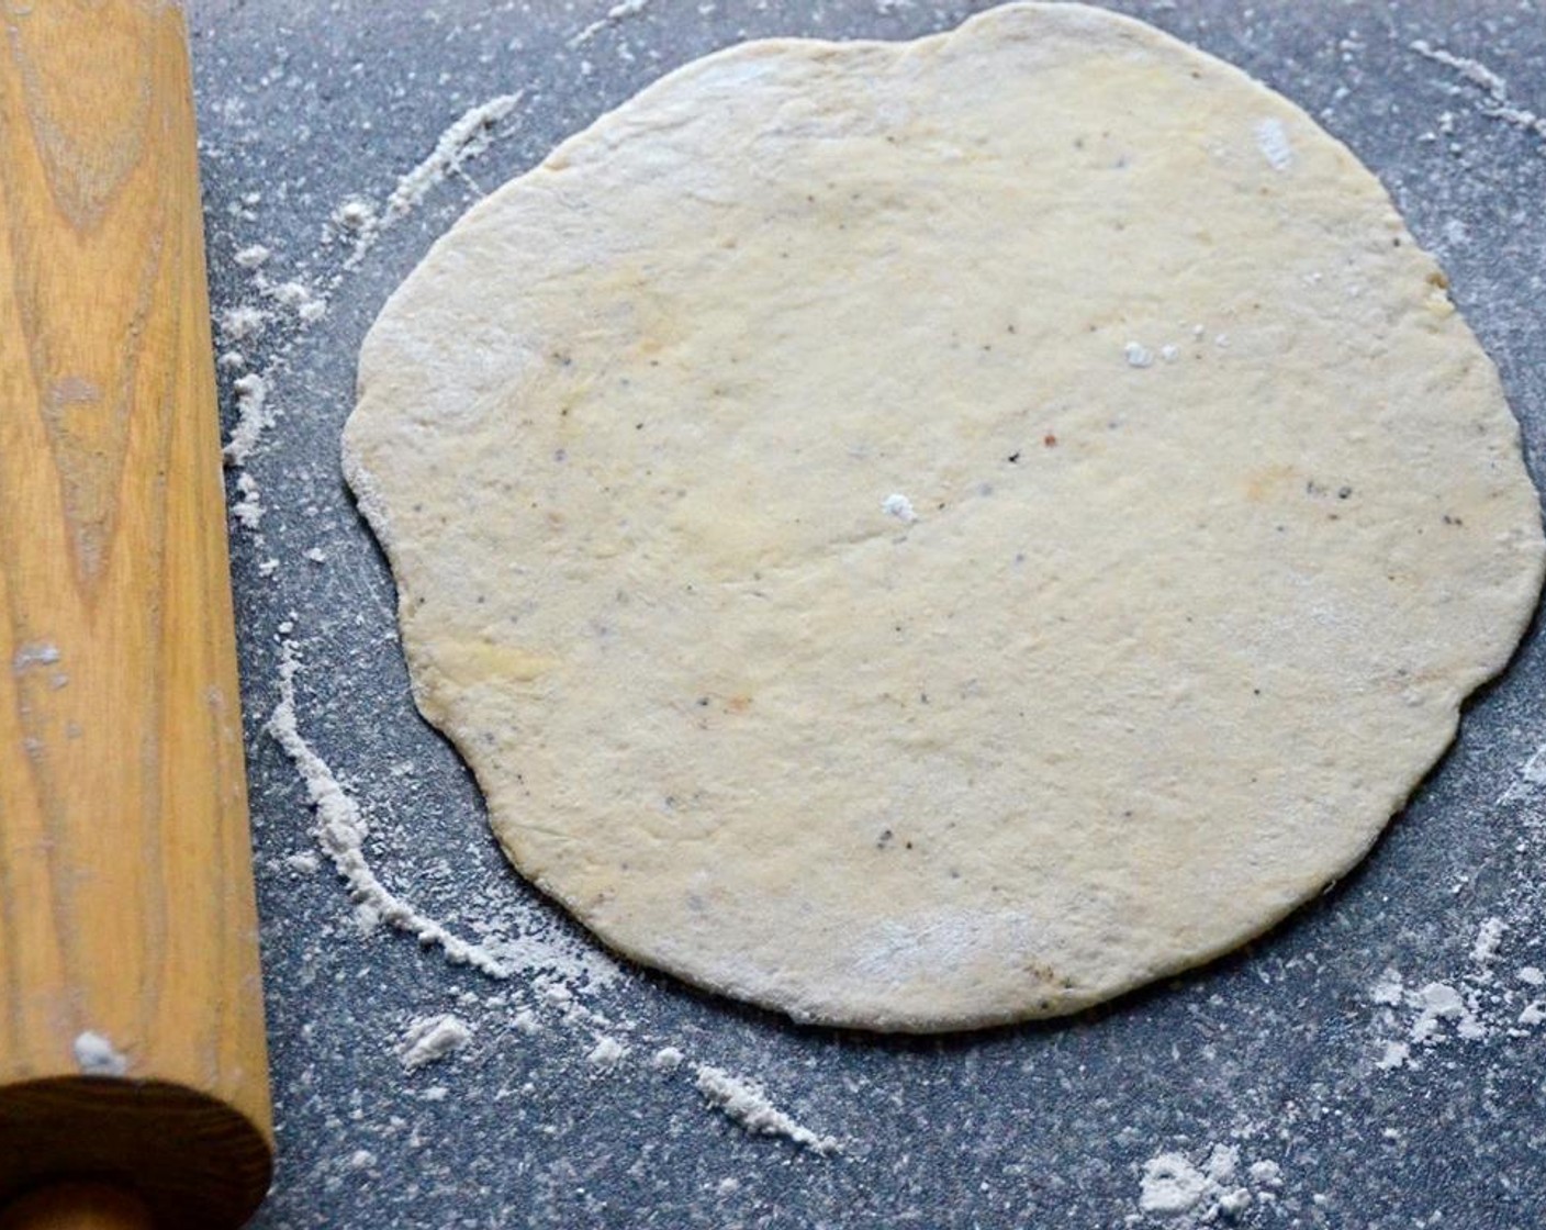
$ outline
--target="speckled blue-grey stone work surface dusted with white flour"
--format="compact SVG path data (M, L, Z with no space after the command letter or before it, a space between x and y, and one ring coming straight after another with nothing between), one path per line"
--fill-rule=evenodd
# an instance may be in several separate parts
M280 1142L255 1225L1546 1224L1538 628L1368 862L1265 941L1098 1013L938 1040L796 1029L608 970L506 866L468 775L414 715L391 577L337 458L385 297L481 190L679 63L768 34L903 39L977 8L192 5L223 412L229 430L237 381L257 374L275 416L230 472L247 521L263 507L232 523ZM1288 94L1379 173L1497 359L1540 481L1546 124L1524 114L1546 111L1540 5L1115 8ZM380 210L458 118L516 91L487 149L351 265L335 212ZM325 313L303 319L308 302ZM241 306L271 319L235 336ZM286 641L298 732L368 820L371 868L510 978L362 925L264 730ZM405 1032L439 1013L470 1040L405 1071ZM683 1061L654 1063L663 1047ZM694 1088L702 1064L839 1148L747 1131Z

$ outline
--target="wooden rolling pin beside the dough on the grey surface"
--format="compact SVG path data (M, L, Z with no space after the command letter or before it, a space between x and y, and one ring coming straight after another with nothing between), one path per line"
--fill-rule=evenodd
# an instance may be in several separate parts
M272 1165L182 14L0 3L0 1227Z

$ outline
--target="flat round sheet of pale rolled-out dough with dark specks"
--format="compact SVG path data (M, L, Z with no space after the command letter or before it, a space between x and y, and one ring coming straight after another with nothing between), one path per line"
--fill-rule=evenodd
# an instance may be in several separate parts
M1379 183L1138 22L688 65L360 356L425 716L611 947L804 1021L1070 1012L1370 848L1541 582Z

